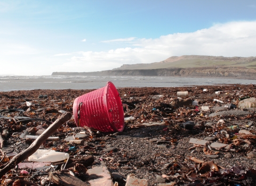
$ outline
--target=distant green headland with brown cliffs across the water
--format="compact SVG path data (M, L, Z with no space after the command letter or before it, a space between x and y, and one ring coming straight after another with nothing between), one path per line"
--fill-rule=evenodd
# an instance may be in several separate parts
M161 62L124 64L113 70L53 72L52 75L142 75L256 79L256 57L172 56Z

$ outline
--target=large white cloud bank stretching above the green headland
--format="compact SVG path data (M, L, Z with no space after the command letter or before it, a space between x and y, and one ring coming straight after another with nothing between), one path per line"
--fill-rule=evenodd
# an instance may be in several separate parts
M134 38L105 41L128 41ZM174 33L157 39L137 39L134 48L117 48L107 52L77 52L62 65L62 71L101 71L122 64L153 63L171 56L255 56L256 21L214 24L211 28L189 33Z

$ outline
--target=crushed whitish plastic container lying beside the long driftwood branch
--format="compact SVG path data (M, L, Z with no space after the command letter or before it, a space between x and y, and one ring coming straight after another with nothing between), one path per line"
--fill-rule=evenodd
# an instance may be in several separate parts
M59 162L68 159L69 154L49 149L38 149L28 157L29 162Z

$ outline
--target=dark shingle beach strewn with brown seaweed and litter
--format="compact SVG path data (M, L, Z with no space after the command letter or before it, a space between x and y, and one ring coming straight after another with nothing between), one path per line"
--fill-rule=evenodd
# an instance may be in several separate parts
M2 151L5 156L11 159L12 155L27 149L33 140L24 137L23 133L30 131L31 135L38 135L35 131L49 127L50 124L45 121L54 122L65 112L73 113L74 99L93 90L0 92L0 121L4 139ZM74 119L71 119L52 135L59 137L58 141L46 141L40 148L68 153L70 159L93 156L94 163L86 168L90 170L106 166L111 175L110 180L118 182L118 185L125 185L130 174L147 180L149 185L186 185L195 182L198 185L209 182L222 185L224 182L226 185L255 184L256 109L237 107L241 100L256 97L255 84L119 87L117 90L122 103L127 104L129 109L127 111L124 107L123 132L87 130L77 127ZM179 91L188 91L188 96L178 99ZM45 121L21 122L22 117ZM33 128L34 132L31 130ZM242 130L247 133L244 134ZM70 145L65 140L81 131L88 136L83 139L83 144ZM197 144L194 139L206 143ZM221 147L214 146L217 143ZM76 150L69 150L70 147ZM195 158L205 162L206 167L203 168L202 163L198 163ZM6 162L8 159L4 159L1 164ZM27 159L23 160L23 163L27 162ZM212 162L218 170L209 167L213 165ZM247 173L235 172L234 167L235 170L246 170ZM60 167L54 170L50 168L42 176L35 174L38 171L36 168L18 168L12 177L19 176L22 170L29 172L29 176L22 179L41 183L42 177L47 177L51 171L60 171ZM68 170L78 179L91 184L89 174L74 171L74 167ZM29 179L31 175L34 175L33 179ZM46 183L50 182L45 180Z

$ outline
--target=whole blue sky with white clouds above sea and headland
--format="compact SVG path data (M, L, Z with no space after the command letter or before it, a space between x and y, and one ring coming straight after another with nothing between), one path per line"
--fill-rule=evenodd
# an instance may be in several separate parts
M111 70L171 56L256 56L256 1L0 0L0 74Z

